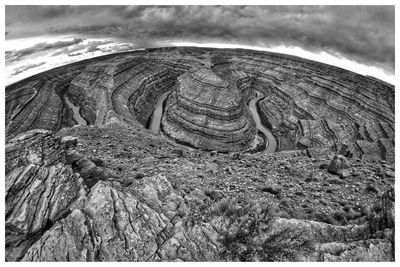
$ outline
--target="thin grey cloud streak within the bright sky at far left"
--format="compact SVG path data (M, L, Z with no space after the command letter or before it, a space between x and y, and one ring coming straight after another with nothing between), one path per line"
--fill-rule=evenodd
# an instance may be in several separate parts
M75 38L70 41L58 41L54 43L39 43L32 47L20 49L20 50L13 50L13 51L6 51L6 63L19 61L22 58L27 56L33 55L35 53L40 52L47 52L52 49L63 49L67 48L68 46L79 44L83 40L80 38Z

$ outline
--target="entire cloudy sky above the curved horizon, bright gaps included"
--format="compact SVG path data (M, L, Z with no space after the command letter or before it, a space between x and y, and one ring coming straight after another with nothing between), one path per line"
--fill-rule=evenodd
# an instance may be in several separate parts
M6 6L5 11L9 78L49 67L51 59L62 61L57 57L76 61L179 43L286 47L394 77L394 6Z

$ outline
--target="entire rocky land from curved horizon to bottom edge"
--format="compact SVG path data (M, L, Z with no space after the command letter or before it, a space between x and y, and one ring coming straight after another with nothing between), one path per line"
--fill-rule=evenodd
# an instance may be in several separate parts
M394 261L394 87L317 62L59 67L6 87L5 163L6 261Z

